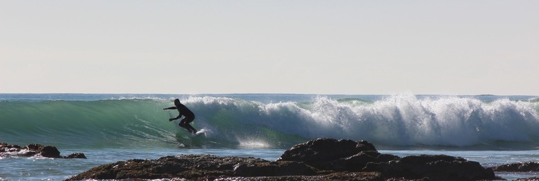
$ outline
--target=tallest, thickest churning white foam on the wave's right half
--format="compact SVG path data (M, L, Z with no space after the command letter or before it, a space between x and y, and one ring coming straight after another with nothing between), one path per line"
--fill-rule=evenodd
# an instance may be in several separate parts
M275 130L307 138L365 139L388 145L475 145L539 138L536 104L498 99L393 95L373 104L339 103L318 97L311 108L268 104ZM288 115L287 114L292 114ZM277 118L277 119L276 119Z

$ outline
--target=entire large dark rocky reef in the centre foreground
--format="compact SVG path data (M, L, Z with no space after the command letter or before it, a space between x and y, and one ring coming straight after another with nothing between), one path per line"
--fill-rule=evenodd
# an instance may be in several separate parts
M445 155L380 154L367 141L318 138L276 161L236 156L179 155L100 165L68 180L503 180L478 162Z

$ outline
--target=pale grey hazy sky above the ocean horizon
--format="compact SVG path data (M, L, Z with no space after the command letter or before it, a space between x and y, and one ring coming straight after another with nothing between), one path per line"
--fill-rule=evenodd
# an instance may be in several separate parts
M0 93L539 95L539 1L4 1Z

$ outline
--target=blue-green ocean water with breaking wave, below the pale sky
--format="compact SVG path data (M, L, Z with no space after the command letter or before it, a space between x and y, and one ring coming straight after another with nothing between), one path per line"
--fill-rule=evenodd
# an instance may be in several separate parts
M180 99L203 130L180 128ZM61 155L0 153L0 180L63 180L98 165L179 154L276 160L313 138L366 140L397 156L446 154L492 167L539 162L539 97L498 95L0 94L0 143ZM508 180L539 173L496 173Z

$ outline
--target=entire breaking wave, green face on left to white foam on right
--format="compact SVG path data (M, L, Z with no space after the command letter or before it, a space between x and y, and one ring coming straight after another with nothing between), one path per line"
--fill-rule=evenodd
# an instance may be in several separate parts
M250 95L252 96L252 95ZM180 97L181 98L181 97ZM367 140L388 147L539 145L539 101L391 95L380 99L314 96L277 103L241 96L190 96L191 138L168 118L170 98L0 101L0 142L65 147L270 147L311 138ZM173 143L173 144L171 144ZM505 145L505 146L504 146Z

